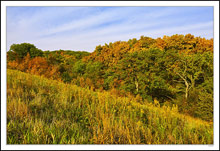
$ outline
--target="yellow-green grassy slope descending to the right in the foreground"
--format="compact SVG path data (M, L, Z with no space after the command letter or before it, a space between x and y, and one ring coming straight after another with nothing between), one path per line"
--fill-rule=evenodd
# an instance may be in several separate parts
M212 144L213 125L177 108L7 70L8 144Z

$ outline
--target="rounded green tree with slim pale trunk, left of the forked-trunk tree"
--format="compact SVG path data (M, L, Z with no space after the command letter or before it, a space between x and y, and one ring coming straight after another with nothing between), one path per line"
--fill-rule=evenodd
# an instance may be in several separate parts
M164 79L163 52L158 49L134 52L126 55L118 66L121 88L143 98L158 98L161 102L172 98L172 92Z

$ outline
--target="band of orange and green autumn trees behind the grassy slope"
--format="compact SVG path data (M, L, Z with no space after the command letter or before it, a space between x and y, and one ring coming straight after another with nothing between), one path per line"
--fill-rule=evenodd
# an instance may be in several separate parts
M42 51L13 44L7 68L74 84L141 104L159 101L182 114L213 121L213 39L191 34L117 41L92 53Z

